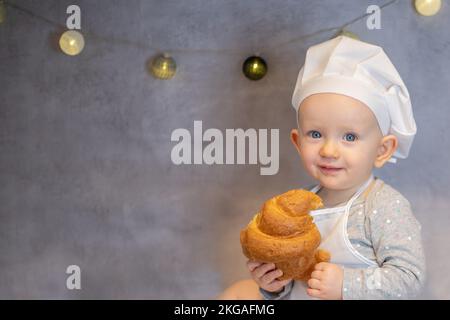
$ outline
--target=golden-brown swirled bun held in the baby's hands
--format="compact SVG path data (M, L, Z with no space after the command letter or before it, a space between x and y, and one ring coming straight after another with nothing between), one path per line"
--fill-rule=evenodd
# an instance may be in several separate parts
M283 271L279 280L307 281L315 264L330 255L317 249L321 237L311 210L323 207L315 193L295 189L267 200L240 232L244 255L250 260L275 263Z

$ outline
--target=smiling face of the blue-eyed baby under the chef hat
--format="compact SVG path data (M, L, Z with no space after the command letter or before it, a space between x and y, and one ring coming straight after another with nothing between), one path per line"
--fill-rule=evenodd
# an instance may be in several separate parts
M332 189L363 183L372 173L383 138L369 107L334 93L303 100L298 132L297 147L305 169ZM327 171L323 166L339 169Z

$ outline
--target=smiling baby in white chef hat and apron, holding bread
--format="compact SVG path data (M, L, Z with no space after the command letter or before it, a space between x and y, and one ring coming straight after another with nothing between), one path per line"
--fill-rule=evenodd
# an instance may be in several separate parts
M411 205L372 170L407 158L416 133L409 93L382 48L339 36L308 49L292 98L291 141L308 188L325 209L311 212L331 254L307 284L280 281L274 264L248 261L265 299L403 299L425 281L421 226Z

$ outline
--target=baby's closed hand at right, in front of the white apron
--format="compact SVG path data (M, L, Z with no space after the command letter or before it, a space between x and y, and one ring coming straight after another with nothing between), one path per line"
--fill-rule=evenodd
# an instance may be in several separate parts
M341 300L343 281L344 270L340 266L321 262L314 267L306 292L315 298Z

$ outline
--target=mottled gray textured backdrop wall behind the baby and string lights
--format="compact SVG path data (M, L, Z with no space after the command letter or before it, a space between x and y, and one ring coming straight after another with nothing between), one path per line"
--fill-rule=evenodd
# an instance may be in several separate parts
M59 30L8 11L0 25L0 298L210 298L247 277L239 230L267 198L315 181L289 142L291 93L306 48L274 46L335 27L384 1L14 1L63 24L82 10L86 47L55 49ZM418 135L411 155L375 174L402 192L423 225L428 284L450 298L448 166L450 6L419 16L411 1L350 30L385 48L409 87ZM97 36L94 36L94 35ZM108 39L115 38L112 43ZM147 46L177 52L157 81ZM243 77L259 52L269 73ZM170 160L176 128L279 128L280 170ZM66 267L82 289L65 287Z

